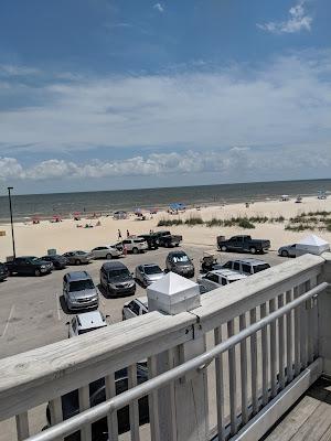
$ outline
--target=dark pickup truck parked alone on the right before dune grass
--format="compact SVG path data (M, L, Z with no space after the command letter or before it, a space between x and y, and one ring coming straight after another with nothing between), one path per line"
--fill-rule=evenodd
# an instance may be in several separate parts
M265 252L270 248L270 240L252 239L250 236L233 236L225 239L224 236L217 236L217 247L221 251L237 252Z

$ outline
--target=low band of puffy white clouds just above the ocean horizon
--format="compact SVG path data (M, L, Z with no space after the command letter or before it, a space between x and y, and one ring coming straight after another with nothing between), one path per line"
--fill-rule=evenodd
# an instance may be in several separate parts
M324 169L331 166L331 143L319 147L319 154L311 155L302 146L277 148L270 152L250 147L233 147L226 151L184 151L181 153L151 153L124 160L100 161L98 159L78 163L63 159L41 161L32 166L23 166L14 158L0 158L0 181L82 180L119 176L160 176L189 173L217 173L220 178L243 172L258 175L295 169Z

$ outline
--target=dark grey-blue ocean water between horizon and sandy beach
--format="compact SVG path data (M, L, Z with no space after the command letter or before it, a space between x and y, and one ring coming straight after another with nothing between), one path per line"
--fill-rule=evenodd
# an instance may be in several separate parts
M117 209L167 207L181 202L186 205L212 205L246 201L278 198L281 194L316 195L318 191L331 192L331 180L277 181L241 184L200 185L164 189L121 190L82 193L53 193L12 195L14 220L33 215L68 216L73 212L111 213ZM0 197L0 220L9 220L7 196Z

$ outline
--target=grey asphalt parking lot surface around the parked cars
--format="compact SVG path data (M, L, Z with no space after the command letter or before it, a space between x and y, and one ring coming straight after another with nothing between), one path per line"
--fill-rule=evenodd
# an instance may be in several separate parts
M199 276L200 259L205 247L184 245L182 247L193 258L195 277ZM212 248L211 248L212 249ZM128 255L120 260L134 272L139 263L158 263L164 268L167 248L147 251L141 255ZM243 258L243 255L217 252L218 260L225 263L229 258ZM286 260L270 251L258 258L270 266ZM54 270L43 277L11 277L0 283L0 357L25 352L39 346L57 342L67 337L66 322L71 314L66 312L62 297L62 279L71 270L86 270L95 284L99 283L99 269L103 260L94 260L81 267L67 267L64 270ZM124 303L135 297L146 295L146 290L137 284L135 295L116 299L106 299L100 293L99 309L109 315L109 322L121 320Z

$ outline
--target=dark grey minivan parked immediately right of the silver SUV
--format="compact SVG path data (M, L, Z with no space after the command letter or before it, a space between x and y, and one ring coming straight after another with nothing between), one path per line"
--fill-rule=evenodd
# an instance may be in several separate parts
M136 282L132 273L120 261L109 261L100 268L100 286L107 295L134 294Z

